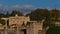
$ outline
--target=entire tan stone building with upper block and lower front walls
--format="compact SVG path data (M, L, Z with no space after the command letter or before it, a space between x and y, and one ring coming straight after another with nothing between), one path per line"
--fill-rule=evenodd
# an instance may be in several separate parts
M45 34L42 28L44 20L30 21L29 16L18 16L17 14L1 19L6 21L4 26L0 25L1 34Z

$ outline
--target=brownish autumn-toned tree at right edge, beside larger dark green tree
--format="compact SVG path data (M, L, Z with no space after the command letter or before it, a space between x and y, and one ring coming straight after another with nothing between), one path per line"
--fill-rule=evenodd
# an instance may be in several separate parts
M56 21L59 21L59 18L60 18L59 17L60 11L57 10L57 9L49 10L49 13L50 13L50 14L48 14L49 16L48 15L46 16L45 22L43 23L44 24L43 26L45 26L45 27L47 27L47 26L49 26L49 27L53 26L54 23Z

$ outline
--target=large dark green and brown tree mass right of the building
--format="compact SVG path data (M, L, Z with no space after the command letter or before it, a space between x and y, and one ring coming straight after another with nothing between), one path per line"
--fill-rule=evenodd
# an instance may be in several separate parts
M60 10L36 9L27 15L30 16L30 20L40 21L45 19L43 26L47 27L54 25L54 23L59 20Z

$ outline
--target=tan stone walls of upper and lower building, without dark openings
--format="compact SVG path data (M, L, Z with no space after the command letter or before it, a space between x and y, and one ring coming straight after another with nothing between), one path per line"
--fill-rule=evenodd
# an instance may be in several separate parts
M29 16L28 17L25 17L25 16L14 16L14 17L9 17L9 26L12 25L12 24L17 24L18 26L17 29L14 30L14 28L12 26L10 26L10 28L7 28L5 29L5 32L12 32L15 33L15 34L24 34L24 32L22 32L21 30L22 29L26 29L27 30L27 34L38 34L39 31L43 30L42 27L43 27L43 21L30 21L30 18ZM22 25L22 23L24 22L24 26L20 26ZM26 25L27 23L29 23L28 25ZM7 34L8 34L7 33ZM5 33L6 34L6 33ZM41 34L41 33L40 33Z

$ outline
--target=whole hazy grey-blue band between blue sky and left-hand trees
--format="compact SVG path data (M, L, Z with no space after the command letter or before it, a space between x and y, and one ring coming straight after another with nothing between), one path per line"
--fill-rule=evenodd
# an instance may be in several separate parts
M18 10L21 11L23 13L29 13L31 12L31 10L36 9L37 7L33 6L33 5L13 5L13 6L4 6L2 4L0 4L0 10L3 10L5 12L9 11L12 12L12 10ZM2 12L2 11L0 11Z

